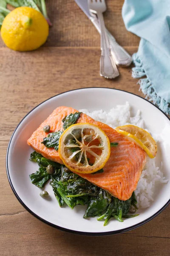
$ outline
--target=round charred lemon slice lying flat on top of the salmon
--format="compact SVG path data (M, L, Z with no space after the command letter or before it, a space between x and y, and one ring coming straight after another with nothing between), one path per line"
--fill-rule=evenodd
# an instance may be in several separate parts
M105 166L110 154L108 136L94 124L71 125L59 139L59 157L74 172L96 172Z

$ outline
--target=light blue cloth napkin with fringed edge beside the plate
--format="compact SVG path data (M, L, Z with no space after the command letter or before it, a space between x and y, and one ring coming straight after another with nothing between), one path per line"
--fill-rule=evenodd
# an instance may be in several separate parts
M141 38L132 76L142 92L170 114L170 0L125 0L126 29Z

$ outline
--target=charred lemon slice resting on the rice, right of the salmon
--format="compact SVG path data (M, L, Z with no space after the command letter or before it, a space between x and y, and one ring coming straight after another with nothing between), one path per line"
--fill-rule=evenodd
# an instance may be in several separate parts
M133 140L139 145L150 158L154 158L157 153L156 141L144 129L135 125L123 125L116 128L116 131L127 136L128 139Z

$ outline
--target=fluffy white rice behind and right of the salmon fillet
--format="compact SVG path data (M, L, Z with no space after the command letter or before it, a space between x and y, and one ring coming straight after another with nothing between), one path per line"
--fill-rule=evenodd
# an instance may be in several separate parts
M131 116L128 102L125 105L117 105L116 108L112 108L109 112L103 110L89 112L87 109L81 109L79 111L112 128L127 124L145 128L144 120L140 116L140 110L137 111L136 116ZM164 177L161 168L156 166L156 157L154 159L147 157L146 166L135 191L138 207L147 208L150 206L150 202L154 201L154 192L158 182L167 183L168 180Z

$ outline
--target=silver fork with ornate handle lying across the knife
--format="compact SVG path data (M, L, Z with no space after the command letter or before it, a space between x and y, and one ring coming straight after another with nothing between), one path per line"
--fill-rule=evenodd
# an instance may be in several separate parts
M101 29L101 58L100 58L100 76L113 79L119 76L116 63L111 55L111 47L108 40L108 34L105 28L103 12L106 11L105 0L88 0L90 12L95 13L99 19Z

